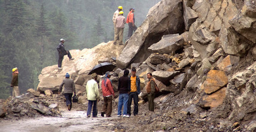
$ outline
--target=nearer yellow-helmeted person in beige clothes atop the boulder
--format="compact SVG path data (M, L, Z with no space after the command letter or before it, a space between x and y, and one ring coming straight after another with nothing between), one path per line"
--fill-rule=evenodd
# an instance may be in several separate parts
M114 44L123 45L123 33L124 33L124 24L126 24L126 18L123 16L124 12L120 11L116 19L116 34L114 39Z

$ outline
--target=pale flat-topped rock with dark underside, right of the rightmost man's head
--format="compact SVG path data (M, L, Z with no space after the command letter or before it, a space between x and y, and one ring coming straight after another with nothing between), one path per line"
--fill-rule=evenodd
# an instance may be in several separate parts
M167 71L154 71L152 72L152 76L164 83L164 85L170 85L170 80L174 78L175 75L179 74L179 71L167 72Z

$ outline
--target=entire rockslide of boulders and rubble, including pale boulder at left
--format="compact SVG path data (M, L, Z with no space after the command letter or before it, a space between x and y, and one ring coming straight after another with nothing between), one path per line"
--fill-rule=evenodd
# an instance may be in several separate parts
M111 77L115 92L124 68L137 69L141 104L146 102L146 73L156 79L160 114L152 115L157 120L151 123L166 120L163 126L170 125L170 131L255 131L255 23L255 0L162 0L125 47L111 41L71 50L75 60L64 58L63 70L57 65L42 70L38 91L55 93L68 72L85 104L88 72L99 62L115 64L111 57L117 57Z

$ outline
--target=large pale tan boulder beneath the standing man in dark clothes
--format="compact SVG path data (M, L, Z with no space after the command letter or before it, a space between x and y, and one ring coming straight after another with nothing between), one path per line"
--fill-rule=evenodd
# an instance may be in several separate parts
M58 70L57 65L48 66L42 69L39 75L39 84L37 90L41 93L47 89L56 92L58 91L65 73L70 74L70 78L77 85L83 86L90 79L89 71L98 64L98 60L108 57L118 57L123 46L116 46L113 41L101 43L92 49L70 50L74 60L69 60L67 56L63 59L63 70Z

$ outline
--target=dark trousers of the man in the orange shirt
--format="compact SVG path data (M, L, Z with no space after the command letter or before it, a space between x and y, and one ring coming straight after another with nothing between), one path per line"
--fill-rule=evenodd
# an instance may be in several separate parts
M138 112L139 112L139 104L138 104L139 98L138 98L137 92L130 92L130 94L129 94L127 114L131 115L130 105L132 105L132 99L133 99L133 103L134 103L133 114L138 115Z

